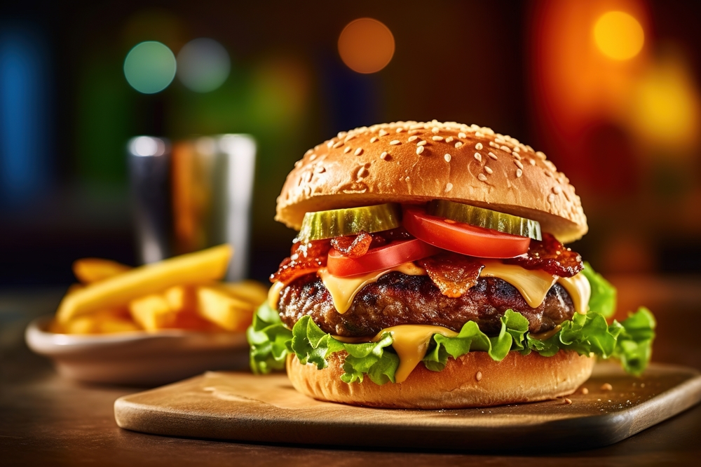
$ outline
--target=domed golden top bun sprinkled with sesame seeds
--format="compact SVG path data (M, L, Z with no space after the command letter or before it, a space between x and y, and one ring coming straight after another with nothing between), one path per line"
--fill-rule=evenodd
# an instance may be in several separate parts
M540 151L491 128L400 121L341 132L287 175L275 219L306 212L446 199L534 219L563 243L587 233L574 187Z

